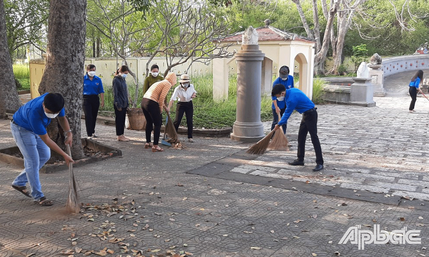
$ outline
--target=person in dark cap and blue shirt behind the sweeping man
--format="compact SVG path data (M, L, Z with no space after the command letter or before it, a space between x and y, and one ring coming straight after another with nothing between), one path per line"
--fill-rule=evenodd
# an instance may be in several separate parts
M276 80L273 82L272 86L274 87L277 84L282 84L284 85L284 87L286 89L292 88L293 87L293 76L289 75L289 67L287 66L281 66L280 69L278 70L278 78L276 78ZM271 130L274 129L274 126L278 123L278 113L280 113L280 116L284 114L284 110L286 110L286 102L284 101L284 97L275 97L272 96L272 125L271 125ZM284 123L282 128L283 128L283 133L286 134L286 126L287 123Z

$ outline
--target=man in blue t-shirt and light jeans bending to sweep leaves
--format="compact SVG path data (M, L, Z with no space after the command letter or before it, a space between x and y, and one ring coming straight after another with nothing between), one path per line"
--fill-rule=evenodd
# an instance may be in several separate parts
M52 201L42 193L39 170L51 158L51 149L63 156L66 164L73 159L49 138L46 126L58 117L58 123L65 131L65 144L72 146L72 130L65 117L64 98L60 93L45 93L30 100L13 114L10 123L13 139L24 156L24 170L12 182L12 187L33 197L42 206L52 205ZM27 191L31 186L31 195Z

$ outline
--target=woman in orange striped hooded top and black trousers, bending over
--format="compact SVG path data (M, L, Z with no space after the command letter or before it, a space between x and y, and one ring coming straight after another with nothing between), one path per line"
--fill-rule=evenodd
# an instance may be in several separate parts
M146 118L146 144L145 148L151 147L151 132L154 131L154 143L152 152L162 152L164 149L158 146L161 132L161 113L165 110L165 98L170 88L176 84L177 78L174 72L169 72L163 81L154 83L146 91L142 99L143 114Z

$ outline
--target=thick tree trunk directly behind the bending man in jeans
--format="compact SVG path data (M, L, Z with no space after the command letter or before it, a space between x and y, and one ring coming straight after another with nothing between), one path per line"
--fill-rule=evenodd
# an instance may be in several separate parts
M73 159L85 157L81 143L83 69L85 65L86 0L51 0L45 72L39 93L61 93L73 132ZM48 134L64 149L62 129L56 119ZM58 156L58 155L57 155ZM55 156L52 156L55 158Z

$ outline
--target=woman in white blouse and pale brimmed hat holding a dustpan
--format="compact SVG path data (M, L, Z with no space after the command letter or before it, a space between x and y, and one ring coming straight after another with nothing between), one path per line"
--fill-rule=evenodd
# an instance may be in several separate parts
M193 84L190 84L189 75L182 74L178 85L171 96L171 100L168 104L168 111L170 111L173 101L178 100L176 105L176 119L174 121L174 127L176 131L182 121L183 114L186 114L186 124L188 130L188 141L193 143L192 139L192 128L193 128L193 104L192 99L196 97L196 91Z

